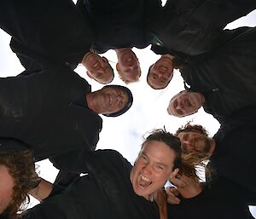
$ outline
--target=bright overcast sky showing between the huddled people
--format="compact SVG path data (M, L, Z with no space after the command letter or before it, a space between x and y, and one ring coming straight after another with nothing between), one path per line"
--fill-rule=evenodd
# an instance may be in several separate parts
M256 26L256 11L247 15L247 17L236 20L229 26L230 29L238 26ZM10 37L5 32L0 32L0 73L1 77L14 76L23 71L20 62L9 49ZM185 118L175 118L166 112L168 103L173 95L183 89L183 78L178 71L174 72L172 82L163 90L151 89L146 82L148 66L157 61L160 56L154 55L149 49L133 49L141 63L142 77L140 81L134 84L128 84L134 96L134 103L128 112L119 118L103 118L103 128L98 142L99 148L112 148L122 153L131 163L134 162L137 153L143 142L143 135L155 128L166 127L166 130L175 132L178 127L193 121L194 124L202 124L207 128L210 135L214 135L218 128L218 121L212 118L202 109L199 112ZM113 51L105 54L109 61L113 61L111 65L115 69L117 61ZM102 88L102 84L97 84L85 74L84 66L78 66L75 70L79 75L92 85L92 89ZM111 84L125 85L115 72L115 78ZM40 176L53 182L57 170L55 170L49 162L38 163ZM255 210L255 209L254 209ZM256 216L256 212L254 212Z

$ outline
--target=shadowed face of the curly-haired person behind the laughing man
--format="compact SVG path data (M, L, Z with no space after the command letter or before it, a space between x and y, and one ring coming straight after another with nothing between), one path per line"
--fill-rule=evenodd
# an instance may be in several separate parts
M209 138L196 132L181 132L177 135L183 153L208 153L211 147Z

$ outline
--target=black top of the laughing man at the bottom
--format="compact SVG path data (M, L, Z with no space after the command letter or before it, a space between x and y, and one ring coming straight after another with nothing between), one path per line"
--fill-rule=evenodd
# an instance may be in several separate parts
M67 157L78 160L73 155L77 154ZM23 218L159 218L157 205L134 193L130 180L132 166L118 152L98 150L79 155L77 170L88 172L88 176L78 177L61 193L50 195L42 204L26 210Z

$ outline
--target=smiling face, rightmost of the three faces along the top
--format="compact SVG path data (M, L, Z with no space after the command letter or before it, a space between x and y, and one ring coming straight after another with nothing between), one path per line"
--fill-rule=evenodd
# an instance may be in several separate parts
M172 59L162 56L150 67L148 72L148 84L154 89L163 89L171 81L173 76Z

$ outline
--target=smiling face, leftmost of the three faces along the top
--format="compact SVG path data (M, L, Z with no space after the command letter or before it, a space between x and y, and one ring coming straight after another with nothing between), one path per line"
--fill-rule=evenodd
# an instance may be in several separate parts
M105 57L91 53L83 62L87 75L101 84L108 84L113 80L113 69Z

